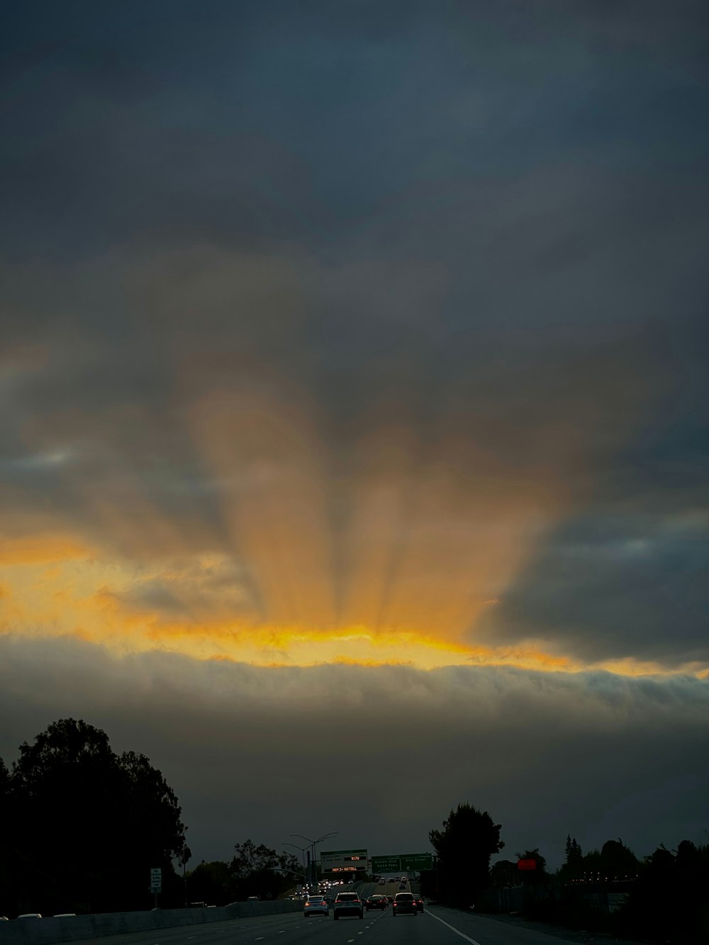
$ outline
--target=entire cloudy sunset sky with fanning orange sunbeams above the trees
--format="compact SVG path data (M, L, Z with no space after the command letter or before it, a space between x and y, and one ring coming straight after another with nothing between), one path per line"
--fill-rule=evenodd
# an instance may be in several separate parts
M0 756L192 865L706 843L703 0L1 15Z

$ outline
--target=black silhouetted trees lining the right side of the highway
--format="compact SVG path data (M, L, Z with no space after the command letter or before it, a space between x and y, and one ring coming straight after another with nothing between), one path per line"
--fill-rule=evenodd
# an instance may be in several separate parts
M621 839L584 853L576 837L566 837L565 859L556 873L546 869L538 848L498 860L500 824L487 812L459 804L429 833L436 867L421 873L424 895L449 905L494 911L494 887L526 889L524 913L530 919L570 928L606 932L663 945L709 943L709 844L683 840L676 850L663 845L638 859ZM520 871L518 860L534 861ZM485 890L493 887L486 895ZM598 903L614 892L625 895L616 911Z

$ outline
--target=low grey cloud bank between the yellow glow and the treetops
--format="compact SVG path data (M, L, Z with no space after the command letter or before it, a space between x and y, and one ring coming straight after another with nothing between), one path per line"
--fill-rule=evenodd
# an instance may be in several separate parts
M585 849L621 835L642 855L706 827L706 680L272 670L115 660L66 640L5 638L0 649L5 761L50 721L85 718L163 770L198 860L228 858L247 836L281 849L290 833L324 829L343 849L426 849L463 800L503 824L507 852L539 846L554 865L566 833ZM372 740L382 730L401 733L386 751Z

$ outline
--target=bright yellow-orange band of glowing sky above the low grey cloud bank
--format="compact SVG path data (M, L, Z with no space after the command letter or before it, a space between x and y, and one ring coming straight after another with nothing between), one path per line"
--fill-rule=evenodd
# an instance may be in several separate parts
M16 551L19 553L19 547ZM35 558L55 558L59 547L78 553L78 545L54 543L46 556L26 547L27 560L6 565L6 580L0 589L0 607L5 632L26 635L76 636L107 646L116 654L162 650L199 660L249 662L259 666L313 666L340 663L365 666L406 664L429 670L447 665L510 665L533 670L579 672L590 668L537 646L470 646L446 639L423 627L307 627L271 625L230 618L215 605L204 619L195 620L177 593L177 615L138 603L141 582L149 585L159 574L164 583L176 582L176 592L188 596L181 583L185 569L175 562L144 573L136 581L130 563L101 562L96 558L53 559L50 564ZM198 575L212 574L220 564L216 556L192 561ZM200 570L201 569L201 570ZM189 570L189 569L187 569ZM614 661L592 664L623 675L662 673L662 666L649 662ZM683 672L706 674L699 664L680 667Z

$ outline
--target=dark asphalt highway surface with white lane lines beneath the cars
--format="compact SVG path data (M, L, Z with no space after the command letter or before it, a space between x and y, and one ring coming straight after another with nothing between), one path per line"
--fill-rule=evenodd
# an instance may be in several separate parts
M391 907L365 912L363 919L330 916L305 919L300 912L260 916L182 928L92 938L83 945L577 945L547 936L468 916L456 909L434 905L416 916L394 919Z

